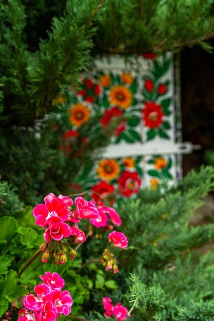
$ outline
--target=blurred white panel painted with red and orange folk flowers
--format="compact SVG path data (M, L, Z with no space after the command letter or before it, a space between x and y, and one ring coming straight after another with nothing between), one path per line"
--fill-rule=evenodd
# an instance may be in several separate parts
M115 197L134 195L144 185L154 189L163 180L180 176L181 157L161 154L163 144L181 141L175 64L171 53L112 56L95 60L91 72L81 76L81 88L67 109L70 128L63 136L64 149L96 114L100 117L97 132L112 126L112 144L121 151L123 144L130 145L130 155L104 156L82 173L80 180L96 202L106 197L114 202ZM91 134L84 137L85 144ZM157 153L133 155L136 143L157 146Z

